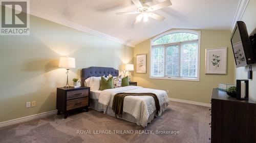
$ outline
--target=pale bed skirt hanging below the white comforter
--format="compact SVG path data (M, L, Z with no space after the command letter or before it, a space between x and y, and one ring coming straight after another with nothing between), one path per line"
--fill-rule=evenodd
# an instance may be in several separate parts
M161 110L162 112L165 111L167 106L168 106L168 103L161 105L161 106L160 106L160 110ZM104 112L104 111L105 111L104 113L106 113L106 114L108 114L108 115L110 115L110 116L114 116L114 117L115 117L115 113L114 113L114 111L112 110L112 108L111 108L111 107L106 107L106 106L100 104L100 103L98 102L98 100L90 99L90 108L91 108L91 109L94 109L94 110L97 110L97 111L101 111L101 112ZM161 113L162 113L162 112L161 112ZM161 113L160 113L159 116L161 116ZM151 123L151 121L154 119L154 117L156 117L155 114L156 114L156 111L154 111L154 112L148 117L147 123ZM132 123L136 123L136 124L139 125L139 126L143 126L143 127L146 126L146 125L142 125L142 124L141 124L142 121L141 121L140 119L135 119L132 115L130 115L129 113L126 113L126 112L123 113L122 118L120 118L120 119L129 121L129 122L132 122Z

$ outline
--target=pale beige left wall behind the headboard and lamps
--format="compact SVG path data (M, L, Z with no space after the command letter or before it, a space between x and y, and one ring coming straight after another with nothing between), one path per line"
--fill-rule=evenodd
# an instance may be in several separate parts
M29 36L0 36L0 122L56 109L56 87L66 84L61 55L76 58L70 83L82 68L123 70L134 48L31 16ZM36 107L25 108L28 101Z

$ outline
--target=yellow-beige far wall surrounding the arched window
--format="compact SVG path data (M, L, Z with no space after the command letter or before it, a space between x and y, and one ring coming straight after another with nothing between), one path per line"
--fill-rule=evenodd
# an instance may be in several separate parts
M200 55L200 81L181 81L168 79L150 79L150 39L136 45L134 49L134 63L136 54L147 54L146 74L134 72L134 81L146 88L169 90L169 97L209 103L212 88L218 87L218 83L233 83L234 59L230 44L229 31L201 31L201 55ZM206 75L205 73L205 49L216 47L228 47L227 75ZM136 67L136 66L135 66ZM136 69L135 69L136 70Z

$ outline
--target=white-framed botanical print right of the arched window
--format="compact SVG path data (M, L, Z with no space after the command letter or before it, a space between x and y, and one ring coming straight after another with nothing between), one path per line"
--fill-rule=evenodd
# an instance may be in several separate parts
M227 48L206 49L205 52L205 73L226 74Z

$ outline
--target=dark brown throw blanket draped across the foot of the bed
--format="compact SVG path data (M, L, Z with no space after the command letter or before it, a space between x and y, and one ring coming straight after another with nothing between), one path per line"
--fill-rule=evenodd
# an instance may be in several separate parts
M114 96L112 109L115 112L115 116L122 118L123 114L123 99L125 96L152 96L156 104L156 115L160 111L160 104L157 95L154 93L117 93Z

